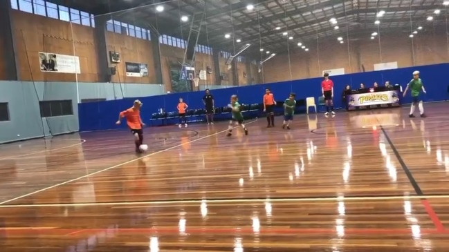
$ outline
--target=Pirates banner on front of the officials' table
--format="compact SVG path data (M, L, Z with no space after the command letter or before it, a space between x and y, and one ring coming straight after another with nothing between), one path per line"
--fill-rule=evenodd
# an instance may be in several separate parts
M395 104L399 102L399 91L390 90L374 93L347 95L349 107L369 106L378 104Z

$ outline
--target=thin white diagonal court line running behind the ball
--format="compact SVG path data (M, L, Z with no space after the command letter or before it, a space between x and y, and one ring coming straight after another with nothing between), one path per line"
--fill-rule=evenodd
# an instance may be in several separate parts
M257 119L255 119L254 121L248 122L248 123L246 123L246 124L252 124L253 122L257 122ZM239 127L239 126L236 126L236 127L234 127L234 128L237 128L237 127ZM6 204L6 203L8 203L8 202L15 201L15 200L20 200L21 198L28 197L28 196L34 195L34 194L36 194L36 193L41 193L41 192L43 192L43 191L47 191L47 190L52 189L52 188L55 188L55 187L57 187L57 186L62 186L62 185L64 185L64 184L68 184L68 183L71 183L71 182L75 182L75 181L77 181L77 180L82 180L82 179L84 179L84 178L86 178L86 177L90 177L90 176L92 176L92 175L96 175L96 174L102 173L102 172L104 172L104 171L109 171L109 170L111 170L111 169L113 169L113 168L117 168L117 167L119 167L119 166L124 166L125 164L130 164L130 163L132 163L132 162L135 162L135 161L137 161L137 160L143 159L143 158L145 158L145 157L153 156L153 155L156 155L156 154L159 154L159 153L164 153L165 151L170 151L170 150L172 150L172 149L174 149L174 148L181 147L181 146L183 146L183 145L185 145L185 144L191 144L191 143L193 143L193 142L197 142L197 141L199 141L199 140L202 140L202 139L205 139L205 138L208 138L208 137L212 137L212 136L214 136L214 135L219 135L219 134L221 134L221 133L225 133L226 131L228 131L228 129L226 129L226 130L221 130L221 131L219 131L219 132L216 132L216 133L213 133L213 134L210 134L210 135L206 135L206 136L204 136L204 137L200 137L200 138L198 138L198 139L194 139L194 140L192 140L192 141L185 142L185 143L183 143L183 144L178 144L178 145L176 145L176 146L172 146L172 147L169 147L169 148L165 148L165 149L163 149L163 150L161 150L161 151L156 151L155 153L149 153L148 155L145 155L145 156L142 156L142 157L138 157L138 158L135 158L135 159L131 159L131 160L129 160L129 161L127 161L127 162L123 162L123 163L121 163L121 164L116 164L115 166L109 166L108 168L104 168L104 169L102 169L102 170L100 170L100 171L95 171L95 173L89 173L89 174L86 174L86 175L81 176L81 177L76 177L76 178L74 178L73 180L67 180L66 182L62 182L62 183L59 183L59 184L55 184L55 185L53 185L53 186L48 186L48 187L46 187L46 188L42 188L42 189L40 189L40 190L37 190L37 191L31 192L31 193L24 194L24 195L21 195L21 196L19 196L19 197L12 198L12 199L10 199L10 200L5 200L5 201L3 201L3 202L0 202L0 205Z

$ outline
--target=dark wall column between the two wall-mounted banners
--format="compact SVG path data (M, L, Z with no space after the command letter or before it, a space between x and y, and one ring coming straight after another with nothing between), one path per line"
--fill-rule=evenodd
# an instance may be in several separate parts
M95 17L95 49L97 51L97 63L98 63L98 82L111 81L111 70L109 68L109 57L107 52L106 43L106 22L108 17L99 16Z

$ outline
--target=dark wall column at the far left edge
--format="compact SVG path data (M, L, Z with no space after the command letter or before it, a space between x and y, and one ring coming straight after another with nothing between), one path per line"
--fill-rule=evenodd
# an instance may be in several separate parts
M0 45L2 53L0 54L0 60L8 62L5 65L5 77L7 80L18 80L17 72L17 59L15 53L14 32L12 30L12 17L11 17L11 1L0 1Z

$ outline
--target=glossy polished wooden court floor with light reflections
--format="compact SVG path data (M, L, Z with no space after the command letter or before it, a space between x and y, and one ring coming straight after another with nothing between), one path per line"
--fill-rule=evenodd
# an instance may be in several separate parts
M425 108L2 145L0 251L448 251L449 103Z

